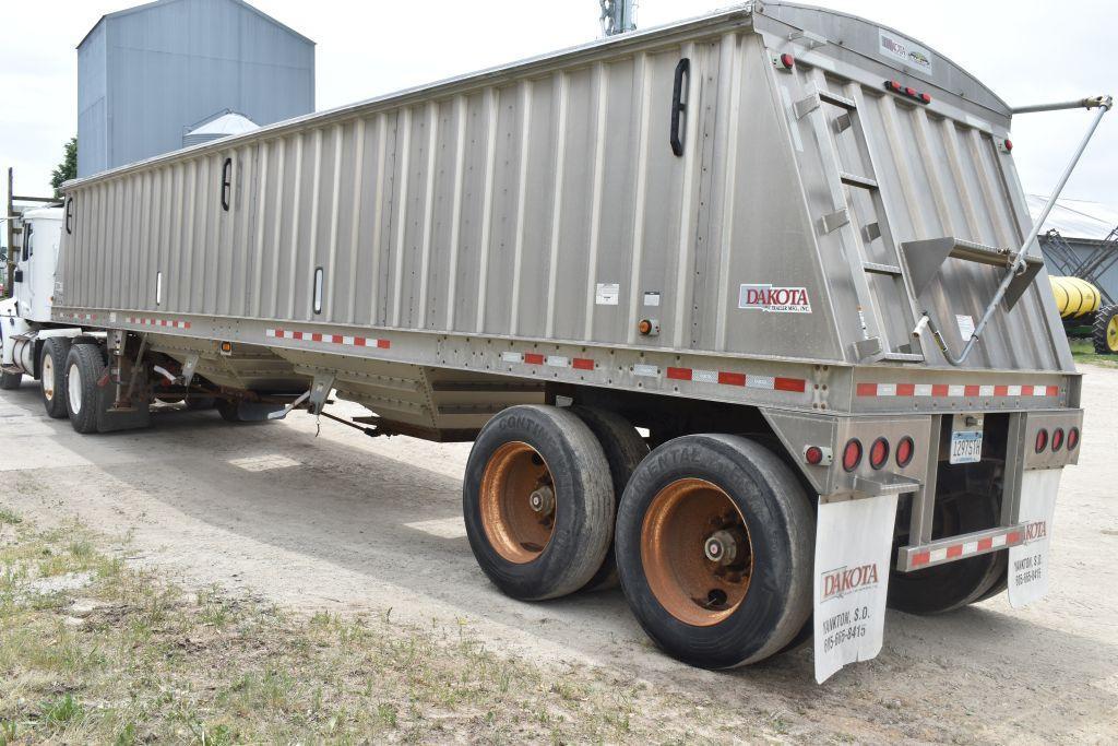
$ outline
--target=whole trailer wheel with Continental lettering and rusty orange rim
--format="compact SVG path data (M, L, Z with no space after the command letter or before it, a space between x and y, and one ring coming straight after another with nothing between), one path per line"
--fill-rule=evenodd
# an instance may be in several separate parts
M477 565L503 593L542 601L574 593L609 550L609 465L581 419L551 406L504 409L466 462L462 510Z

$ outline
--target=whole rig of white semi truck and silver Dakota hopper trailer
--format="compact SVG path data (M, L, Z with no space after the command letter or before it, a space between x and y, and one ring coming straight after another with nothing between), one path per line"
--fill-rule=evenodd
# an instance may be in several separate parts
M1074 105L1093 132L1110 100ZM814 636L823 680L887 605L1046 588L1080 379L1013 113L773 2L284 122L25 216L0 383L87 434L335 391L369 434L473 441L501 591L616 578L680 660Z

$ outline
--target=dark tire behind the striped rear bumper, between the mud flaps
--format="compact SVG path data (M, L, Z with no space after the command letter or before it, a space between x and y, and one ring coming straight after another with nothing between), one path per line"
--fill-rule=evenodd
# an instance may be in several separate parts
M942 536L958 536L995 526L993 495L963 493L936 500ZM988 597L1006 576L1008 551L998 550L915 573L893 570L889 577L889 607L909 614L945 614ZM999 593L999 592L998 592Z

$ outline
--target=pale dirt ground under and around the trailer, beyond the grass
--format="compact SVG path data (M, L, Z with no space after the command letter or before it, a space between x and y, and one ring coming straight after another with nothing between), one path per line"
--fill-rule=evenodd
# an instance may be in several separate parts
M1084 366L1081 463L1064 472L1053 591L940 617L890 613L881 655L824 686L809 649L729 673L659 653L617 591L527 604L474 564L461 520L467 444L368 438L306 415L233 426L160 413L140 433L80 436L36 385L0 394L0 503L44 525L130 533L139 560L292 610L468 626L561 671L595 665L767 718L788 740L1112 743L1118 738L1118 370ZM339 409L345 409L340 404ZM682 715L681 717L686 717Z

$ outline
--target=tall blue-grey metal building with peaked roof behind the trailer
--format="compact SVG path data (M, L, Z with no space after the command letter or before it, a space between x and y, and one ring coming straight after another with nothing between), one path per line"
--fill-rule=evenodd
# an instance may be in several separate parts
M258 125L314 111L314 43L243 0L157 0L78 45L78 176L181 148L215 112Z

